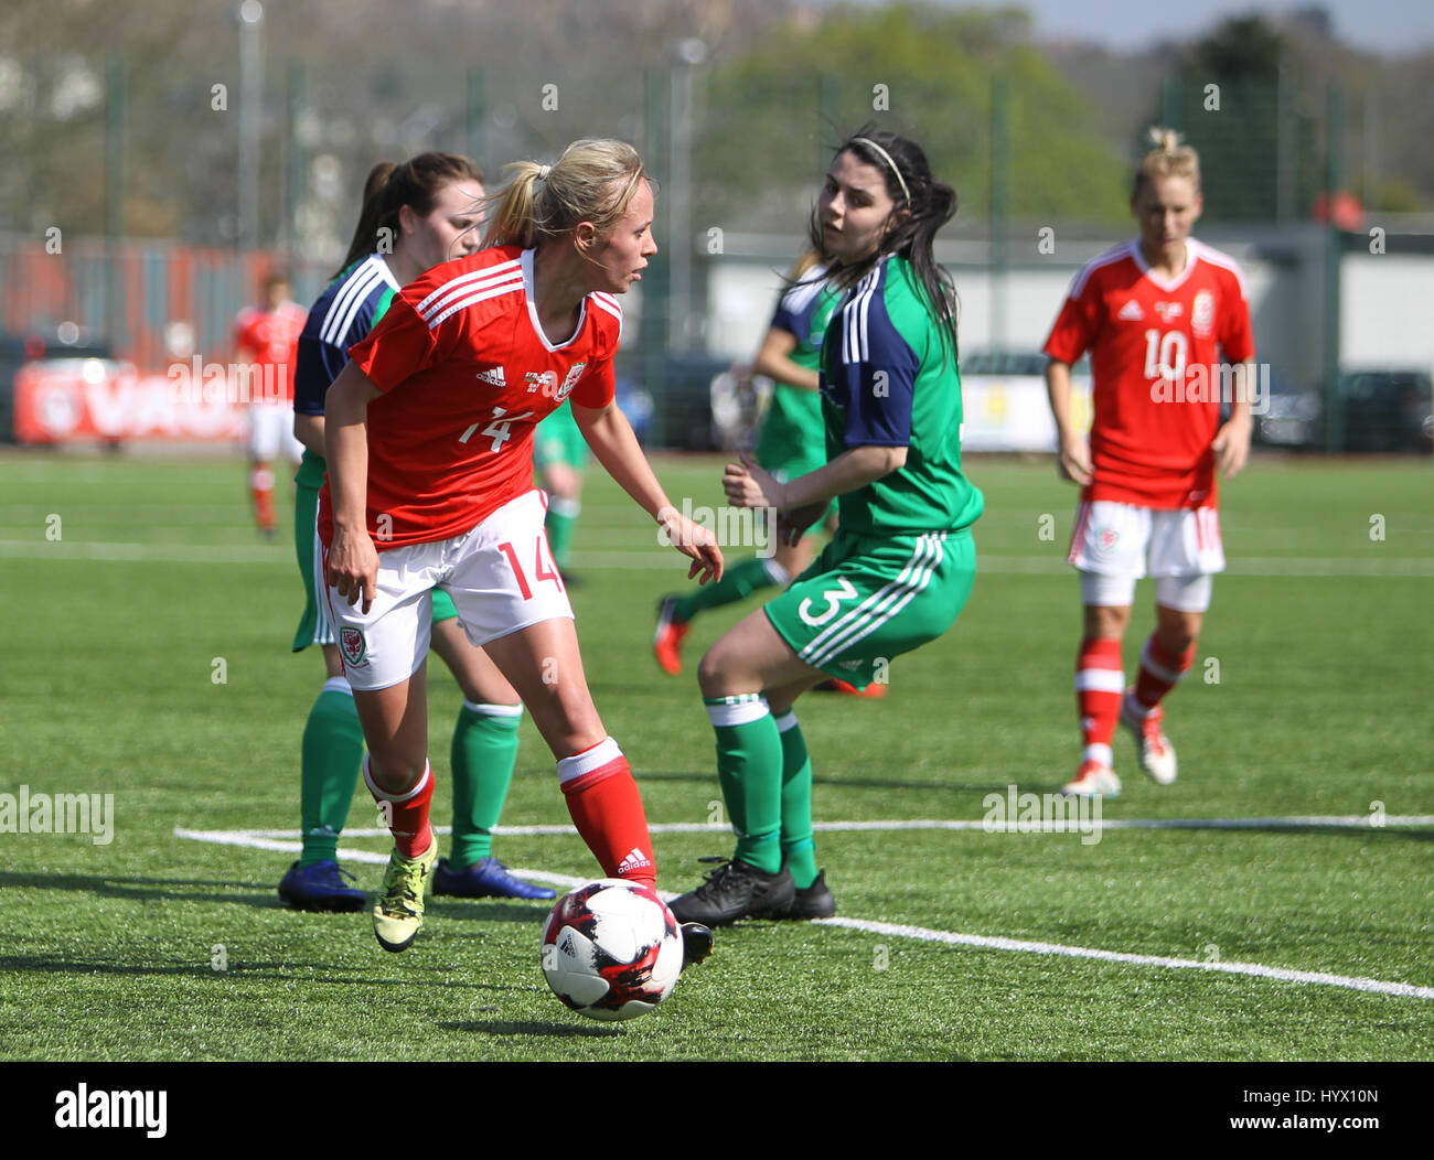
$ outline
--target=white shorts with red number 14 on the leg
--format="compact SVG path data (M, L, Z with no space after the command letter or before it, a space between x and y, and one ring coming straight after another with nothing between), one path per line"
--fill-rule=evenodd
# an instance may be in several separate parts
M482 647L572 605L543 532L542 492L509 500L450 539L379 552L379 582L369 615L327 586L328 614L344 674L353 688L374 691L406 681L429 655L433 588L453 598L469 641ZM324 549L327 575L328 551Z

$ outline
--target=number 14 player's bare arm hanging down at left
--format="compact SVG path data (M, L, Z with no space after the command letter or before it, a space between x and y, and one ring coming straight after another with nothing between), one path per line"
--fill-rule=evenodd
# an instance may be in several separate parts
M354 363L346 366L324 396L324 450L328 492L334 505L334 538L326 579L348 604L373 608L379 584L379 552L369 536L369 403L379 389Z

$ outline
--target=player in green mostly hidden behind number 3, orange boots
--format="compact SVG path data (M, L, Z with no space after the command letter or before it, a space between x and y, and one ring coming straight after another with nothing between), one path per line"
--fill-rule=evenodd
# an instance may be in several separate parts
M842 297L826 281L827 262L817 249L809 249L797 262L753 363L757 374L766 374L776 384L757 440L757 463L782 482L826 463L817 366L822 336ZM836 522L835 500L822 522ZM815 536L803 536L797 543L779 542L774 553L734 564L717 584L663 596L652 635L652 655L663 671L674 677L683 671L683 640L701 612L736 604L763 588L784 588L812 562L815 551Z

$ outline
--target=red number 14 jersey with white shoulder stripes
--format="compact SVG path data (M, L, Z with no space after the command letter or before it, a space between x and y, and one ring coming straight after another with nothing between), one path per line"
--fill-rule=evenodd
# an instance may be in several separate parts
M379 551L449 539L532 490L532 433L572 396L612 401L622 308L582 300L576 330L538 324L533 251L483 249L393 297L348 357L383 391L369 404L369 535ZM320 535L333 535L328 483ZM380 522L381 520L381 522Z

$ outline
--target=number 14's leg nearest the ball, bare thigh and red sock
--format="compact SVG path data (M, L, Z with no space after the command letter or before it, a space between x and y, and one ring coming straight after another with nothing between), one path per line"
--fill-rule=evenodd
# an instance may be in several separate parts
M602 872L654 885L657 866L642 799L627 757L592 704L572 621L541 621L483 648L558 760L568 813Z

